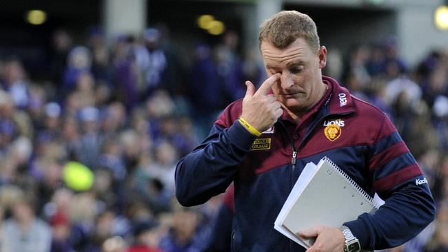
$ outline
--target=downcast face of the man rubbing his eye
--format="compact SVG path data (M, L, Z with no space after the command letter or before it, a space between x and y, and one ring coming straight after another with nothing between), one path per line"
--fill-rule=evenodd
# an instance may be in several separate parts
M305 39L298 38L283 49L263 41L260 49L267 75L281 74L272 85L280 103L291 112L306 112L318 102L323 85L320 70L327 60L325 47L314 52Z

